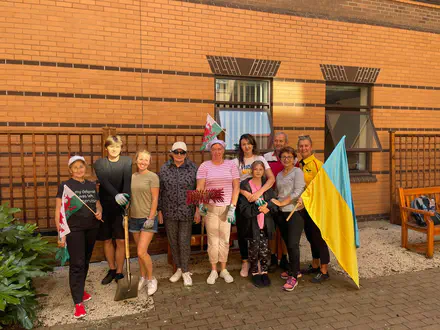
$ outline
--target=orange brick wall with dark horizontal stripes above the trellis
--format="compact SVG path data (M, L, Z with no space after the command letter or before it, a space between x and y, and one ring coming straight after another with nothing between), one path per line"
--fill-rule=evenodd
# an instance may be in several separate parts
M373 118L384 152L373 154L377 182L353 184L353 194L359 215L388 213L387 130L439 130L440 7L240 1L260 4L257 11L195 2L2 1L1 129L96 131L110 124L129 131L143 118L147 131L200 132L206 113L214 115L206 55L271 59L281 61L273 80L275 129L293 143L311 134L323 159L320 64L380 68Z

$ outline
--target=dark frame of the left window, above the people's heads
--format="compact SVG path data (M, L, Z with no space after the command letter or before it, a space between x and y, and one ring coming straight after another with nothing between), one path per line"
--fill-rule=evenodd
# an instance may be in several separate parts
M217 101L217 79L227 79L227 80L242 80L242 81L267 81L268 82L268 102L228 102L228 101ZM222 105L222 106L218 106ZM230 107L226 107L227 105L230 105ZM237 107L237 106L249 106L248 107ZM257 108L257 107L261 108ZM236 77L236 76L215 76L214 77L214 115L215 120L222 126L221 120L220 120L220 112L222 110L229 110L229 111L246 111L246 112L266 112L267 117L269 120L269 127L270 127L270 134L268 136L268 148L262 149L260 146L258 146L260 152L264 152L267 150L270 150L273 143L273 136L274 136L274 127L273 127L273 79L271 78L265 78L265 77ZM223 126L222 126L223 127ZM226 134L228 132L226 131ZM244 134L244 133L243 133ZM236 142L238 143L238 141ZM226 149L227 154L236 153L236 149Z

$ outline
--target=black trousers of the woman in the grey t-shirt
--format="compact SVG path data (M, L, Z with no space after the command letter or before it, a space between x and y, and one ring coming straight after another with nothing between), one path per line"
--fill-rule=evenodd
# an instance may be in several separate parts
M296 278L300 270L299 241L304 229L304 219L299 215L299 212L295 212L287 222L286 219L289 214L290 212L279 212L275 219L280 228L281 237L287 246L287 253L289 254L289 275Z

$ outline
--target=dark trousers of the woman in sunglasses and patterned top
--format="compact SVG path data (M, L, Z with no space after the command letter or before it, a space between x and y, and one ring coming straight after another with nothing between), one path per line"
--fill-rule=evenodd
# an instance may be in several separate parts
M191 256L192 221L165 220L165 230L174 263L186 273Z

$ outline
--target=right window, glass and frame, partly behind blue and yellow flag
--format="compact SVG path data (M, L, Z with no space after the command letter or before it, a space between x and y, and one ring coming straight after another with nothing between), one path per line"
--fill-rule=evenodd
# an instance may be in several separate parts
M370 91L370 86L326 86L325 158L345 135L351 173L370 172L371 152L382 150L370 116Z

